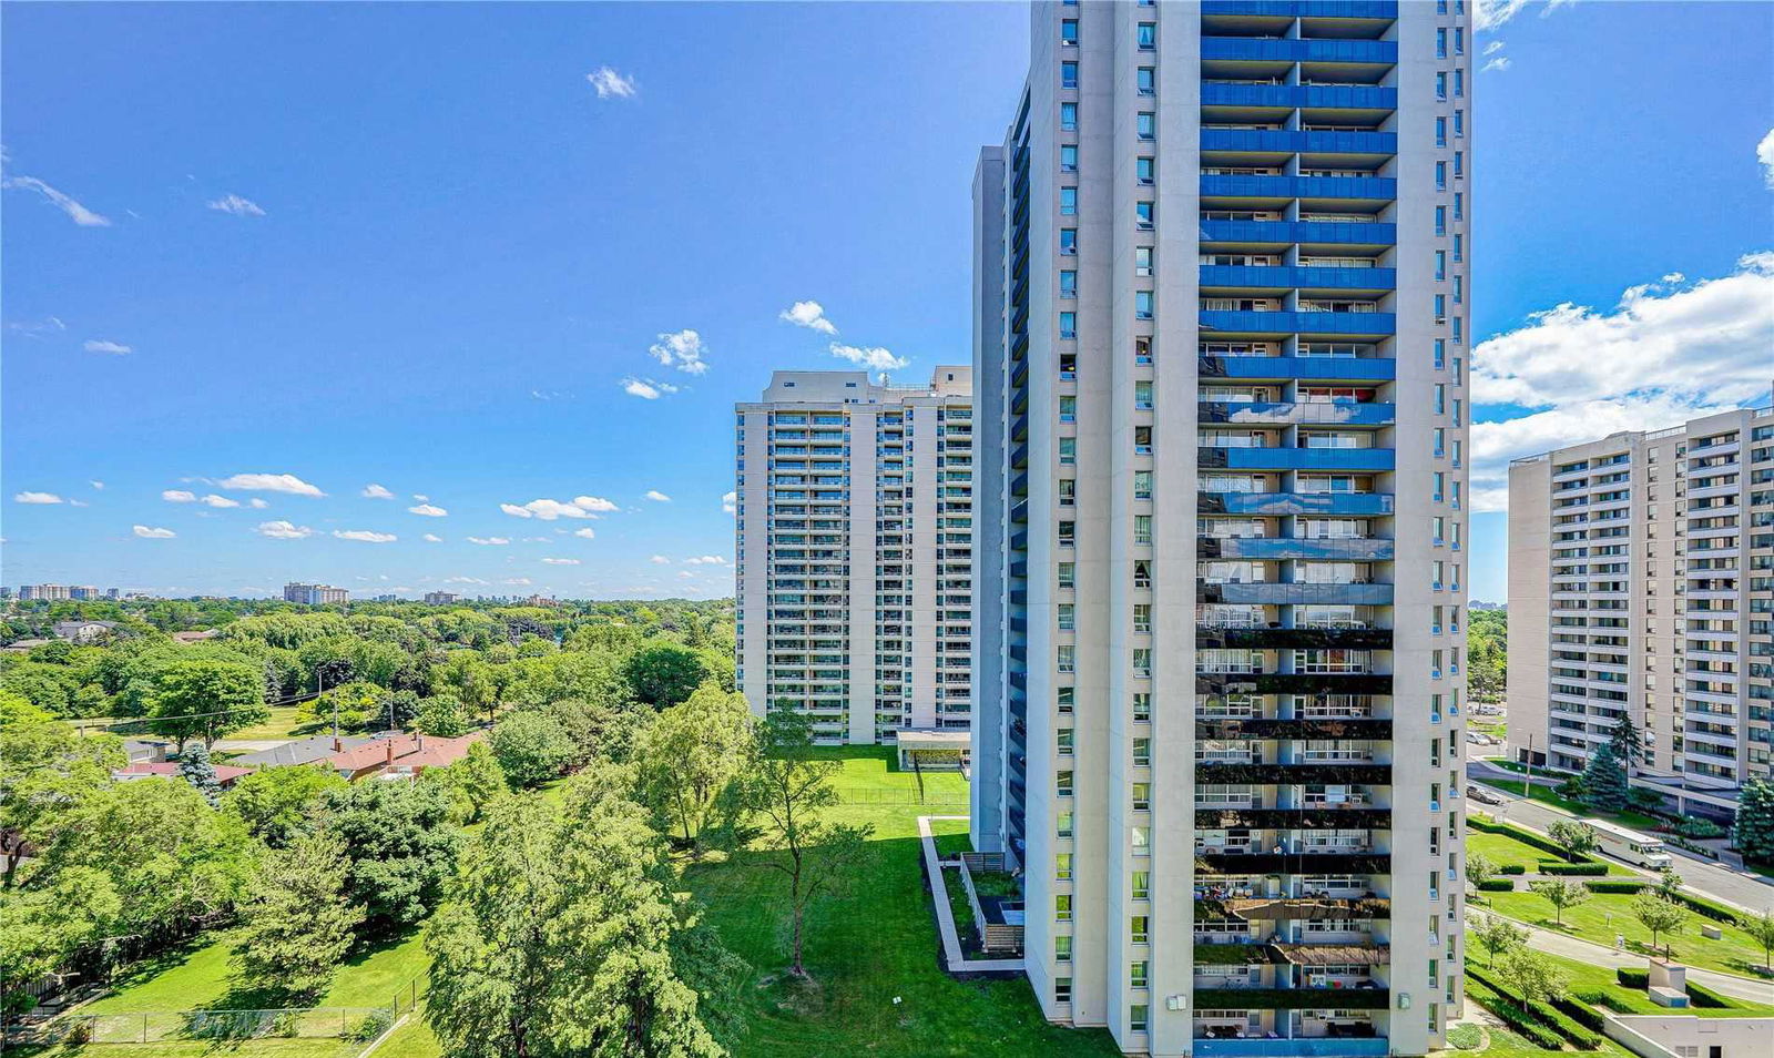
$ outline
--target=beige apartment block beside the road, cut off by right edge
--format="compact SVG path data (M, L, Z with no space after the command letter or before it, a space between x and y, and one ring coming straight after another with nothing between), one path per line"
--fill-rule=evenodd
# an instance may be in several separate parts
M1774 408L1510 465L1510 754L1581 772L1620 717L1629 783L1730 822L1774 765Z

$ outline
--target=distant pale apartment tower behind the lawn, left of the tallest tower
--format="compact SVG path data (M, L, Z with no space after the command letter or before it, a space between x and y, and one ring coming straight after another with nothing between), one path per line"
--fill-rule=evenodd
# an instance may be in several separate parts
M972 717L972 371L777 371L736 408L738 682L821 742Z

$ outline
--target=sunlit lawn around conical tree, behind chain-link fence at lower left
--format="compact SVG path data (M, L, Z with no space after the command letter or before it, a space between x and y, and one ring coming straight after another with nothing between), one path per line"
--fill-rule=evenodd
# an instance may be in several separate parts
M234 982L227 936L195 948L149 960L117 982L117 989L82 1014L121 1014L174 1010L248 1010L284 1007L279 996L243 991ZM316 1007L387 1007L401 985L426 967L419 930L404 937L357 951L339 967L326 994ZM403 999L410 996L403 994Z

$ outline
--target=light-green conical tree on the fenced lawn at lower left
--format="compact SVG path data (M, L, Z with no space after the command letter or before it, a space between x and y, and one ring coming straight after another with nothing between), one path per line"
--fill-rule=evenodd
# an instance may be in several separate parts
M364 909L344 896L349 863L330 834L303 834L264 857L234 959L259 987L312 996L351 950Z

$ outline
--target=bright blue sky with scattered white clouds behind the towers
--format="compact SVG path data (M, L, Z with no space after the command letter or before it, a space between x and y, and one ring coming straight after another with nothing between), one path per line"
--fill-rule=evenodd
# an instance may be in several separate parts
M1510 454L1774 375L1774 5L1511 9L1478 39L1487 506ZM1015 4L0 20L0 579L161 593L729 591L690 559L731 554L733 401L834 346L967 360L972 162L1027 55ZM781 318L809 300L836 334Z

